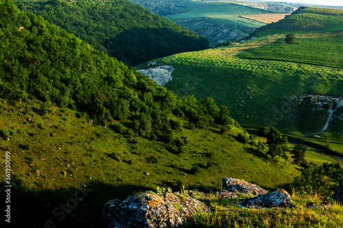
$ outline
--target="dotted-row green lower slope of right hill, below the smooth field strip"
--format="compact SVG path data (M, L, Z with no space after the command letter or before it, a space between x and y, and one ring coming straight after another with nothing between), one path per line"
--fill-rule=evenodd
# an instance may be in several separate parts
M231 115L248 126L276 124L285 131L294 131L294 124L289 125L287 121L290 118L287 113L274 118L276 111L279 110L275 115L281 110L282 101L289 104L287 108L292 106L289 112L296 112L295 100L285 98L294 97L298 92L341 94L342 71L337 68L234 56L239 49L247 47L235 45L181 53L158 61L176 67L168 89L179 95L194 94L199 99L211 96L218 104L227 105Z

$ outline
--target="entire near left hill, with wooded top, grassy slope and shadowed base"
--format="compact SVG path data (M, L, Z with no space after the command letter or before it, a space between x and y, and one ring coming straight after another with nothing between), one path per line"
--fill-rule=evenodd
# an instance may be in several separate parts
M157 186L211 192L238 177L289 190L300 175L213 99L178 97L10 0L0 0L0 46L5 227L106 227L106 201ZM312 149L306 159L339 162Z

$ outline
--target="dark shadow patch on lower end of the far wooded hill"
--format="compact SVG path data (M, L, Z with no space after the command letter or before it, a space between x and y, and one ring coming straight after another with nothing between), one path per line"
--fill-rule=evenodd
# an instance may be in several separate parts
M174 53L209 47L204 37L185 36L185 31L163 28L134 28L122 31L104 42L108 55L132 65Z

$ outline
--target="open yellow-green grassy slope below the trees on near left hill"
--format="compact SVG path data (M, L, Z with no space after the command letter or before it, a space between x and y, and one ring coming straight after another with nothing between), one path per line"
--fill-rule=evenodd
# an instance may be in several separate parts
M62 227L104 227L100 213L106 201L156 186L210 192L220 189L223 177L237 177L275 190L287 188L300 175L292 160L268 164L265 151L237 142L242 130L236 127L224 135L215 125L196 130L184 127L178 134L187 144L176 154L163 142L130 139L117 134L112 125L89 125L88 116L78 112L51 106L43 114L41 109L40 101L1 100L0 129L8 132L1 138L1 167L5 151L10 151L12 213L23 215L21 220L32 225L52 219ZM321 162L335 161L315 151L309 155ZM84 184L92 191L79 202L82 206L62 222L51 216ZM27 212L28 206L32 211Z

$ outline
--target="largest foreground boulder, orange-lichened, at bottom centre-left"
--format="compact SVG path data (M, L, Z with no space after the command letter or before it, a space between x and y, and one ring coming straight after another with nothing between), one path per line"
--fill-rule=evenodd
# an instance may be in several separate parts
M209 207L191 197L167 192L165 196L143 193L126 200L108 201L102 212L110 225L121 227L183 227L186 218Z

